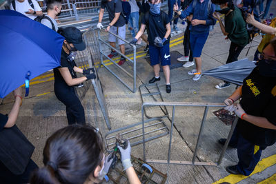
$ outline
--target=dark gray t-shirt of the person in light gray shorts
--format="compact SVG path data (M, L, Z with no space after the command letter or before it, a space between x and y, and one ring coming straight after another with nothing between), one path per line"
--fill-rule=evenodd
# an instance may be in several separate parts
M123 6L121 5L121 0L116 0L116 4L114 3L115 0L108 1L108 3L102 3L101 8L106 8L109 15L109 21L111 22L114 17L115 13L123 12ZM126 19L120 14L118 21L114 24L115 27L121 27L126 24Z

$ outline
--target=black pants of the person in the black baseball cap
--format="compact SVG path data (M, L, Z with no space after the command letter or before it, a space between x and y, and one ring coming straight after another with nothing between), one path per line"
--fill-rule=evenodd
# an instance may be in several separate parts
M75 94L74 88L62 88L55 85L55 94L57 99L66 105L68 124L72 125L78 123L85 125L86 116L84 115L84 109L81 105L81 101L79 101L79 98Z

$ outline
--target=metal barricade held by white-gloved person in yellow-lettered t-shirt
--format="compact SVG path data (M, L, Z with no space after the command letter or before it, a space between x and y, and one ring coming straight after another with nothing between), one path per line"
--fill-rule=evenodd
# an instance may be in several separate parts
M148 120L144 120L144 108L146 107L152 107L152 106L172 106L172 121L171 121L171 126L170 126L170 141L169 141L169 146L168 146L168 159L167 160L155 160L155 159L146 159L146 139L145 139L145 123ZM199 129L199 135L197 138L197 143L195 146L195 151L193 154L193 160L192 161L170 161L170 153L171 153L171 147L172 147L172 130L173 130L173 125L175 123L175 107L177 106L197 106L197 107L205 107L204 110L204 115L202 117L200 129ZM141 106L141 116L142 116L142 130L143 130L143 153L144 153L144 161L148 163L166 163L166 164L180 164L180 165L212 165L212 166L217 166L221 163L224 154L226 152L226 148L228 147L228 143L231 139L231 136L234 132L235 126L237 125L238 117L235 118L235 121L233 122L233 125L231 126L230 132L228 134L228 138L226 139L226 143L224 144L224 147L221 151L221 154L219 156L219 160L217 163L214 162L196 162L195 159L197 157L197 151L199 149L199 141L201 140L201 134L204 129L204 123L206 120L206 116L208 113L208 109L210 107L225 107L224 104L222 103L186 103L186 102L146 102L143 103Z

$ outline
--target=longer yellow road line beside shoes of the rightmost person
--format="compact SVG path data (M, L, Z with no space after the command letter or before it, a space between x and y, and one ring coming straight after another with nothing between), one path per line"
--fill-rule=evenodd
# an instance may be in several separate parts
M272 156L268 156L267 158L262 159L262 161L259 161L259 163L255 167L255 170L249 176L252 176L253 174L256 174L258 172L262 172L267 167L270 167L275 164L276 164L276 154L274 154ZM226 176L225 178L221 178L219 181L216 181L213 184L219 184L219 183L223 183L223 182L228 182L230 184L234 184L234 183L238 183L239 181L242 181L242 180L248 178L249 176L244 176L241 174L238 174L238 175L230 174L230 175Z

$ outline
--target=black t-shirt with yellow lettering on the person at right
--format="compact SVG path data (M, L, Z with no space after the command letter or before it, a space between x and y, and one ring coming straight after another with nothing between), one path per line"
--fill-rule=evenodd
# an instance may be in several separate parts
M244 79L240 104L246 114L265 117L276 125L276 77L261 76L256 67ZM276 141L276 130L258 127L242 119L237 128L244 139L255 145L268 146Z

